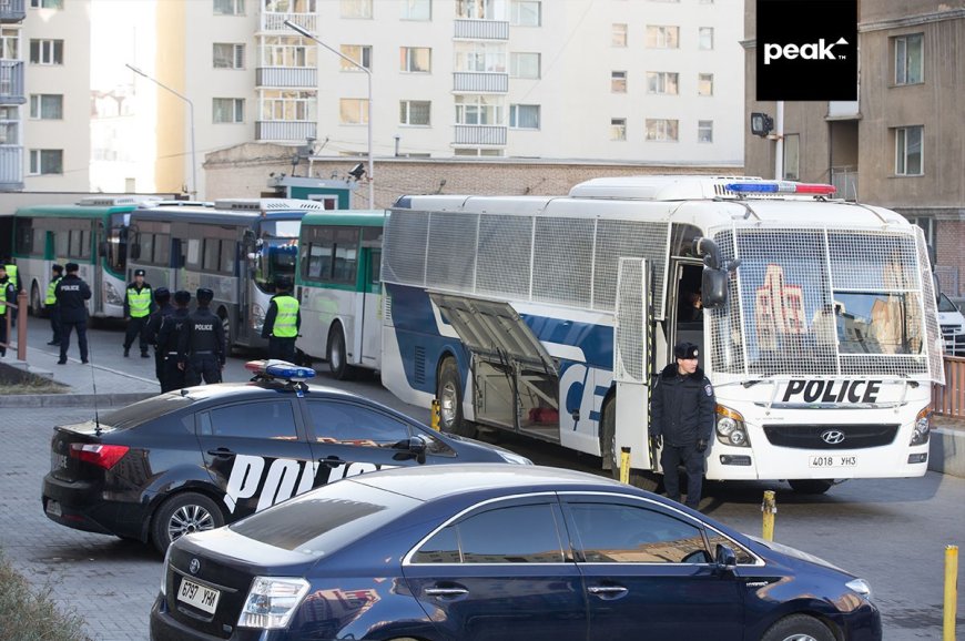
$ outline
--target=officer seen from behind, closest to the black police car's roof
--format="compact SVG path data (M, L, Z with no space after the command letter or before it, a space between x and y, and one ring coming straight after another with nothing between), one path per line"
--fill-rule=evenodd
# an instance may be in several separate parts
M177 348L179 360L185 364L184 378L189 387L200 385L202 378L207 384L221 383L225 359L224 327L221 318L209 309L214 292L202 287L194 296L197 309L187 317L187 330Z

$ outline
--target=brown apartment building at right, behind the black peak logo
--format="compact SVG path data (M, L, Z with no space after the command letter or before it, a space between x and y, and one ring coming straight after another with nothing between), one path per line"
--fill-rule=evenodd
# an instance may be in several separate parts
M965 1L862 0L859 100L785 102L783 177L832 182L847 200L917 223L949 296L965 294ZM746 112L754 100L754 4L744 42ZM746 122L746 121L745 121ZM746 172L773 176L775 144L744 128Z

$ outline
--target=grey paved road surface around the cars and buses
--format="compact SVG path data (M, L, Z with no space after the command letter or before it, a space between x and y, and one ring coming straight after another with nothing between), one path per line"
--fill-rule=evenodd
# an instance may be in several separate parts
M94 332L92 349L112 353L116 368L144 368L150 376L149 360L119 358L120 338L118 330ZM226 378L245 378L243 360L233 359ZM394 399L375 380L338 385L427 416L424 408ZM40 509L51 427L90 414L73 408L3 409L0 547L37 584L49 582L61 603L83 613L94 638L144 639L160 581L161 559L153 549L57 526ZM540 464L597 469L592 457L545 444L508 439L502 445ZM785 491L781 484L711 484L705 511L741 530L760 532L761 495L769 488L779 490L776 539L868 579L884 612L885 639L941 639L944 547L965 547L965 479L930 472L920 479L850 481L823 497L806 499ZM959 586L965 586L963 576L965 568L959 568ZM958 613L958 629L965 635L963 596Z

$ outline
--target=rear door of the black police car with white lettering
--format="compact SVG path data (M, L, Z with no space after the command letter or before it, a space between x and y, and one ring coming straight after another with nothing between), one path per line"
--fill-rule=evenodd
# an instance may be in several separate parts
M224 492L227 520L312 489L318 465L299 426L294 395L199 411L201 455Z

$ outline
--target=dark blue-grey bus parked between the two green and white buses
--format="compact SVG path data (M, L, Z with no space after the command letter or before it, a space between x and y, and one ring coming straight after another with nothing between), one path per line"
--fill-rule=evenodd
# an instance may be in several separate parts
M236 199L211 204L146 205L131 213L128 278L144 269L155 289L214 292L211 311L227 344L263 347L278 278L294 281L298 227L314 201Z

